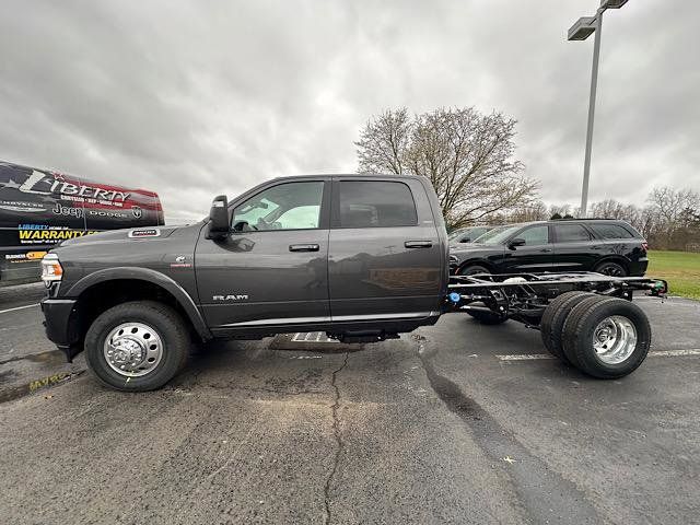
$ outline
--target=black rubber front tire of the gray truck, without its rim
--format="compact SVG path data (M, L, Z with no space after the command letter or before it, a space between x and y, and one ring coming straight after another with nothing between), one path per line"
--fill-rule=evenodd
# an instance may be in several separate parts
M144 325L154 332L154 336L147 336L161 341L160 361L145 375L128 376L117 372L105 357L105 341L109 334L129 323ZM93 322L85 335L85 358L102 384L118 390L145 392L161 388L177 374L187 362L189 346L187 326L177 312L155 301L133 301L103 312Z

